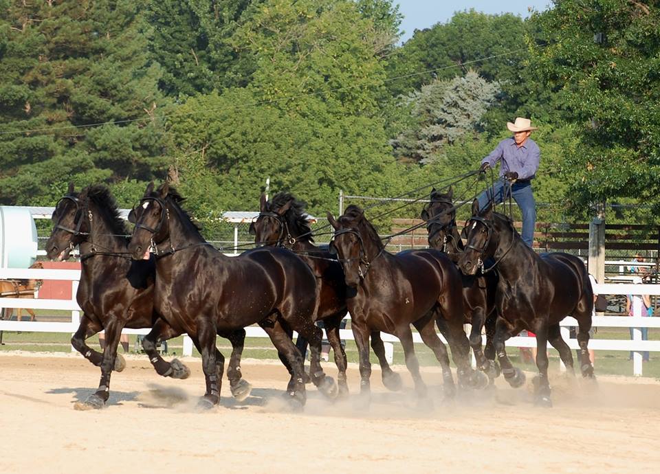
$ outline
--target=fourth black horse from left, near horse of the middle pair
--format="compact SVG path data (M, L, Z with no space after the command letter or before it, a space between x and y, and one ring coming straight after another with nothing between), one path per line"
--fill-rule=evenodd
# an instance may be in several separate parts
M419 374L410 324L431 348L442 366L445 395L455 392L447 350L434 328L437 311L445 319L458 368L459 382L475 385L483 374L474 372L467 360L467 337L463 332L461 275L451 260L434 249L389 253L360 207L350 205L337 220L328 213L335 229L331 249L344 267L347 286L355 296L347 304L360 354L360 393L365 403L371 392L369 335L375 330L397 336L404 348L406 366L415 381L421 403L426 403L426 385Z

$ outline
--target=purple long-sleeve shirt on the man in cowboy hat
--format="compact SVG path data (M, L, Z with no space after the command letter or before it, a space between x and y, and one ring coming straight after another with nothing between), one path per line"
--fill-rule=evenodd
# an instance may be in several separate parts
M487 162L491 168L495 168L497 162L502 161L500 176L507 171L515 171L518 173L518 179L533 179L540 160L541 151L531 138L518 147L511 137L503 139L490 155L481 160L481 164Z

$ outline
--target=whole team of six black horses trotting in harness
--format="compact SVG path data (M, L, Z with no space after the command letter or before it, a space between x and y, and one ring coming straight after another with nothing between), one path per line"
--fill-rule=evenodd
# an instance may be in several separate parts
M571 350L559 330L559 321L571 315L579 324L582 375L593 379L587 351L593 292L582 260L566 253L539 256L522 242L509 217L491 207L480 210L476 201L461 238L451 189L432 190L421 212L430 248L399 253L386 250L355 205L338 218L328 214L332 240L317 246L304 203L279 193L270 201L261 197L259 217L250 225L258 247L230 258L206 242L182 201L168 183L157 189L150 183L129 214L134 224L130 236L102 185L78 192L69 185L56 204L47 256L64 260L74 247L80 249L76 297L83 317L72 344L101 369L98 390L77 403L78 409L100 408L107 402L111 372L125 367L117 353L123 328L151 328L142 346L156 372L175 379L185 379L190 370L177 359L162 359L157 343L190 336L201 353L206 381L201 408L220 400L224 357L216 347L217 336L232 344L227 370L232 395L237 400L250 395L252 386L243 379L240 362L244 328L252 324L265 330L291 374L285 396L294 407L305 405L308 382L328 398L347 396L347 358L339 335L347 313L358 347L362 406L370 402L370 341L384 385L389 390L402 385L386 361L381 332L401 341L418 403L432 403L421 379L411 325L441 365L445 398L452 398L456 387L436 326L449 343L463 390L487 387L500 371L512 387L523 385L525 375L511 365L505 341L522 329L533 331L539 348L534 400L551 406L546 343L559 351L572 373ZM320 363L318 321L333 347L338 383ZM466 323L472 325L469 338L463 330ZM99 353L85 340L101 330L106 348ZM294 331L298 347L292 341ZM307 343L309 373L300 351ZM470 347L478 371L470 365Z

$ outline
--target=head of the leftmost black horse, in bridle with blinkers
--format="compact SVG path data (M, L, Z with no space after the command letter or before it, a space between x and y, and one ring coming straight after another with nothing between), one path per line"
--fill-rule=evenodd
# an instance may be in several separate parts
M87 219L83 218L87 199L74 190L74 183L69 183L69 190L55 205L51 217L53 229L46 242L46 255L50 260L67 260L71 251L85 240Z

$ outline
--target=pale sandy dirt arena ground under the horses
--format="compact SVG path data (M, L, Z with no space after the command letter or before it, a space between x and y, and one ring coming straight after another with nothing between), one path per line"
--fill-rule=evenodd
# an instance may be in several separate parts
M330 403L309 388L302 413L281 398L278 363L244 361L254 386L243 404L222 389L221 406L197 413L199 359L185 381L163 379L146 358L128 356L100 411L76 411L99 372L82 357L0 353L1 473L657 473L660 383L599 379L595 390L555 374L552 409L531 404L529 387L501 380L489 393L441 405L441 376L425 370L438 400L415 408L405 368L403 392L386 392L374 370L373 404ZM325 364L327 373L336 370ZM529 379L528 379L529 380ZM349 383L358 387L358 370ZM203 471L202 471L203 470Z

